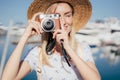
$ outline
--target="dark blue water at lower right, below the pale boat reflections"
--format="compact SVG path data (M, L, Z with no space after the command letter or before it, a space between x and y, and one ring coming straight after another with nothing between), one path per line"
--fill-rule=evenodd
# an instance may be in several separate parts
M96 57L95 63L100 72L102 80L120 80L120 56L116 62L114 59L111 60L109 57L101 57L101 49L98 53L93 55ZM111 53L109 53L111 55Z

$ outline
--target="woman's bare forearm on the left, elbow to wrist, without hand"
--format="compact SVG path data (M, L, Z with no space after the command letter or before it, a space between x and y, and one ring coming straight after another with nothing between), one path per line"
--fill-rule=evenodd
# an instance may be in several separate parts
M16 77L20 66L20 58L22 55L22 51L25 46L25 43L27 42L27 39L28 37L26 34L24 34L20 39L18 45L16 46L15 50L13 51L5 66L2 75L2 80L14 80L14 78Z

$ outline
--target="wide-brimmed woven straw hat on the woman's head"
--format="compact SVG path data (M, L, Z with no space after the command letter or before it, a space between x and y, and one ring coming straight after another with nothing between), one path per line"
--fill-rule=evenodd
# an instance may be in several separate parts
M92 13L89 0L34 0L28 9L28 19L31 19L37 12L45 13L47 8L57 1L65 1L73 6L75 12L73 26L76 32L85 26Z

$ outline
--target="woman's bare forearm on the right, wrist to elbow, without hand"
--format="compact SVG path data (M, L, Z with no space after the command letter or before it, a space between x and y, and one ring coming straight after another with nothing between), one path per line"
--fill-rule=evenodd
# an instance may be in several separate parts
M81 59L70 46L65 46L65 49L72 61L75 63L83 80L100 80L99 72L93 62L85 62ZM82 50L82 49L81 49Z

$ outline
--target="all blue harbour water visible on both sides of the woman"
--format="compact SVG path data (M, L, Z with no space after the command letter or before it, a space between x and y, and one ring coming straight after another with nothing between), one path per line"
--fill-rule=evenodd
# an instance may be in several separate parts
M4 49L4 44L5 44L4 41L5 41L5 37L0 36L0 61ZM9 43L6 61L8 60L10 54L13 52L15 46L16 45ZM24 56L32 46L34 45L29 44L25 46L22 58L24 58ZM120 80L120 54L115 54L114 52L110 52L111 48L112 48L111 46L92 48L96 67L100 72L102 80ZM35 71L32 71L22 80L36 80L36 79L37 79L36 73Z

